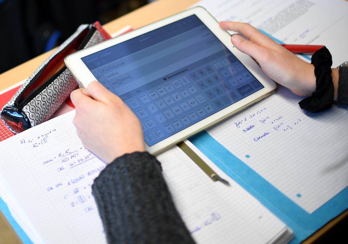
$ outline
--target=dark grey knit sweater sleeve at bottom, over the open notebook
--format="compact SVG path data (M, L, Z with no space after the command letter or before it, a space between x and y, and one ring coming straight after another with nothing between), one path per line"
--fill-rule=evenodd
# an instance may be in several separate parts
M94 180L92 193L108 243L195 243L160 163L147 152L116 158Z

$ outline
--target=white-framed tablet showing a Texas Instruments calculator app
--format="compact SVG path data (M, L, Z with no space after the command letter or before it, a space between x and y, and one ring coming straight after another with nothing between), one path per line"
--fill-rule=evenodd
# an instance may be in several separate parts
M64 62L80 88L97 80L132 109L152 154L277 88L202 7L75 52Z

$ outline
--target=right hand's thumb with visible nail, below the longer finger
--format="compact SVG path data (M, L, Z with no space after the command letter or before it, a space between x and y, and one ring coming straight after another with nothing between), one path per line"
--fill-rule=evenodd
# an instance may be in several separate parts
M258 63L261 63L263 60L268 59L273 50L261 47L252 41L245 40L240 35L232 35L231 38L232 44L241 52L246 53L253 57Z

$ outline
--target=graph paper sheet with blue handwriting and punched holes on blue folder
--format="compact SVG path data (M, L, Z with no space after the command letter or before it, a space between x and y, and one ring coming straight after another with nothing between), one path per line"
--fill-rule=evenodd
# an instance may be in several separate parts
M301 109L280 86L270 97L207 130L309 213L348 186L348 113Z

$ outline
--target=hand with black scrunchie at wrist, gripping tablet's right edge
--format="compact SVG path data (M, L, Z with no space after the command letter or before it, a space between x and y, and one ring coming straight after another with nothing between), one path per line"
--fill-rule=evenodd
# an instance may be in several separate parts
M299 96L310 96L315 91L314 65L292 54L250 24L223 21L220 27L242 33L250 39L247 41L236 34L232 35L231 41L238 50L253 57L271 79Z

